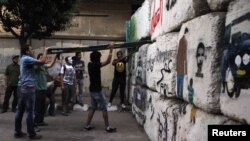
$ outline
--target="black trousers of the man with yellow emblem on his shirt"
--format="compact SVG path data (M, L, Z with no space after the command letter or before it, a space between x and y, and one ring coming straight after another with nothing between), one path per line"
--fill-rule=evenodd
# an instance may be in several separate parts
M120 87L120 88L119 88ZM117 89L120 89L120 100L121 104L124 104L125 88L126 88L126 77L116 77L112 82L112 90L109 102L112 103Z

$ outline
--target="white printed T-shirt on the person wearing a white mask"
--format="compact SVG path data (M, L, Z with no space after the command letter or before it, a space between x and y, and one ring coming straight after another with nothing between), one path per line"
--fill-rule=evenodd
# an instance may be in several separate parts
M63 75L63 83L68 85L74 84L75 69L72 65L63 65L60 74Z

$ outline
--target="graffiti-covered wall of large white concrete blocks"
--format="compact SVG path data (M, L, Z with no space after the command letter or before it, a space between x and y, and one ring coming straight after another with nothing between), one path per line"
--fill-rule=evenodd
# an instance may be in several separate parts
M156 42L133 56L129 84L150 139L207 140L208 125L249 124L250 1L152 0L150 17Z

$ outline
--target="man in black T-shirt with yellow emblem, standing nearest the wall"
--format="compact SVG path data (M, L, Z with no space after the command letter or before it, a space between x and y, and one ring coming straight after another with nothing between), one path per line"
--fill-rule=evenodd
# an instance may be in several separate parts
M122 51L117 52L117 59L114 59L112 65L114 66L114 78L112 83L112 91L109 99L108 106L111 106L111 103L115 97L116 91L119 87L120 89L120 101L122 108L126 108L124 105L124 96L126 88L126 63L128 62L128 57L123 57Z

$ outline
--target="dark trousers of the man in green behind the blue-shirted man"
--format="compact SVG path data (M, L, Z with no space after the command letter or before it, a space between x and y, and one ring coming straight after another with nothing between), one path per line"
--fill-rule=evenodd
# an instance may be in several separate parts
M44 122L44 116L46 111L45 103L46 103L46 90L36 91L35 124Z

